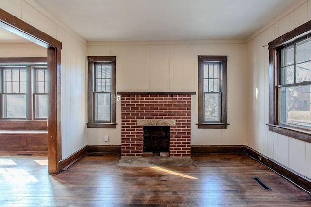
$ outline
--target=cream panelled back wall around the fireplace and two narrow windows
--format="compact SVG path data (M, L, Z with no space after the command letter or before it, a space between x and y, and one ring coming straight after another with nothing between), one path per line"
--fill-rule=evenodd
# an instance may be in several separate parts
M88 42L89 56L117 56L117 91L195 91L192 145L245 144L244 41ZM228 56L228 129L198 129L198 55ZM121 145L121 102L116 129L87 129L87 144ZM104 142L109 135L109 142Z

